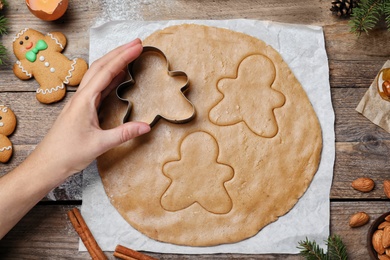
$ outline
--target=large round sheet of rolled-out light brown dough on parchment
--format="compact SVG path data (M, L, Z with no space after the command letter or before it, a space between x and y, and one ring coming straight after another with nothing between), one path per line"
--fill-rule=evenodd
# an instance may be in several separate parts
M317 171L322 135L279 53L242 33L189 24L157 31L144 45L161 49L171 70L187 73L196 117L186 124L160 120L149 134L98 158L112 205L143 234L189 246L237 242L286 214ZM161 91L171 79L152 75L166 77L166 67L147 60L153 88L129 96L134 113L160 102L177 104L180 114L182 97ZM120 125L126 107L109 96L102 128Z

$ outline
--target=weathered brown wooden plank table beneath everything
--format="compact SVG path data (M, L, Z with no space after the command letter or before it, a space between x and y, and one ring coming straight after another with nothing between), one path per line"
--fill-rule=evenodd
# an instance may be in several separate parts
M0 165L0 176L16 167L35 148L75 91L75 88L68 88L70 91L65 101L45 106L35 98L35 84L14 76L12 38L25 27L42 32L63 32L68 38L65 54L88 60L89 28L108 18L248 18L323 26L336 114L336 161L330 195L331 233L342 237L350 259L368 259L366 233L369 225L352 229L348 222L353 213L365 211L371 216L371 223L390 209L390 202L383 193L383 180L390 179L390 134L357 113L355 108L376 73L390 57L390 34L383 24L369 36L357 38L349 33L347 20L332 16L329 11L331 0L124 0L123 3L118 0L70 0L67 13L56 22L35 18L24 1L8 2L4 14L9 19L9 34L0 40L10 51L10 61L0 67L0 104L14 110L18 126L10 137L14 157L8 164ZM110 3L120 5L121 11L113 15ZM376 187L372 192L360 193L351 188L352 180L361 176L375 181ZM82 174L75 175L34 207L0 241L0 258L89 259L88 253L78 252L78 236L66 216L68 210L81 205L81 183ZM110 252L106 255L114 259ZM297 255L151 255L161 259L301 259Z

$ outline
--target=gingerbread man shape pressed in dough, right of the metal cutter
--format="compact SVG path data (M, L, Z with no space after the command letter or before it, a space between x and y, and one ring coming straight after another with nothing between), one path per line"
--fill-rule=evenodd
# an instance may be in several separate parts
M274 137L278 133L274 109L282 107L286 99L272 89L275 77L275 66L266 56L254 54L244 58L235 78L218 81L223 98L210 110L210 121L219 126L244 122L253 133Z

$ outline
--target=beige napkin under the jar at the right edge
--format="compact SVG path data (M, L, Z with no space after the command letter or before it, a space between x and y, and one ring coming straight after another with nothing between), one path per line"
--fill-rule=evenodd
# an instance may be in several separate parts
M390 68L390 60L386 61L383 65L382 69L385 68ZM356 107L356 111L390 133L390 102L382 99L379 95L377 83L378 76L379 72L366 94L364 94L363 98L360 100L359 105Z

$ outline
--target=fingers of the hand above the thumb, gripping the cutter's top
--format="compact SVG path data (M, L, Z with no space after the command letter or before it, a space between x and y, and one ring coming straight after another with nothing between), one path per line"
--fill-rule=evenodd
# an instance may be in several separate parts
M141 52L140 39L135 39L110 51L91 65L80 83L79 90L91 85L88 87L89 89L93 89L95 92L103 91L118 73L136 59Z

